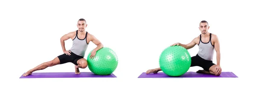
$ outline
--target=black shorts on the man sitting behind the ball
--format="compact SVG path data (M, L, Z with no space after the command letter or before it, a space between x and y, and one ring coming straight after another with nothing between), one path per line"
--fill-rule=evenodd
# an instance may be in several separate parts
M202 57L200 57L199 55L196 55L194 57L191 57L191 67L192 66L200 66L202 67L204 70L209 71L210 67L212 65L215 65L214 63L212 63L212 61L210 60L204 60Z

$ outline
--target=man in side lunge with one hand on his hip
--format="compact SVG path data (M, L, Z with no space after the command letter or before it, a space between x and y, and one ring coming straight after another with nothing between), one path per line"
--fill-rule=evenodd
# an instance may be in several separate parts
M50 66L69 62L75 64L75 74L80 74L79 68L84 69L87 67L87 60L84 59L84 54L90 41L97 45L97 47L91 52L90 58L93 58L96 55L96 52L103 47L102 43L96 37L85 31L86 27L86 21L82 18L79 19L77 24L78 30L65 34L61 37L61 47L64 54L30 69L28 72L24 73L23 76L32 75L32 72L46 69ZM70 50L66 50L64 41L70 38L73 40L73 46Z

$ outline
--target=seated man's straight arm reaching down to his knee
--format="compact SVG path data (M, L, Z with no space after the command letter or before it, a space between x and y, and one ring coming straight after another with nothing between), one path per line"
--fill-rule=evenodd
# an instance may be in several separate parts
M214 48L216 51L216 59L217 59L217 65L220 66L220 62L221 62L221 51L220 51L220 43L218 40L217 35L213 35L214 37Z

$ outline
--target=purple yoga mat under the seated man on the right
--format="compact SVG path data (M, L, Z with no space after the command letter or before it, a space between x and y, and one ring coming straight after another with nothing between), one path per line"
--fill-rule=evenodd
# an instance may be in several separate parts
M221 72L220 76L201 74L196 72L186 72L179 77L171 77L163 72L158 72L157 74L151 73L146 74L143 72L138 78L238 78L233 72Z

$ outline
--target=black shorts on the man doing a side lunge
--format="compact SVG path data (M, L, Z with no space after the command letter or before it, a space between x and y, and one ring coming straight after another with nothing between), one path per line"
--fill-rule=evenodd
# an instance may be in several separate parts
M77 60L79 60L81 58L84 58L84 57L76 55L73 52L71 52L70 55L63 54L63 55L59 55L58 58L60 60L60 64L69 63L70 62L70 63L73 63L75 65L78 65L77 64Z

